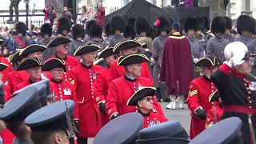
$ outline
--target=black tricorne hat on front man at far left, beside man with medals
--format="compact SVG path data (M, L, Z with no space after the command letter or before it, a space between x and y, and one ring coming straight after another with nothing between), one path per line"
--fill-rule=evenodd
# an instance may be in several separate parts
M27 70L37 66L42 66L42 62L39 58L27 58L18 66L17 71Z

